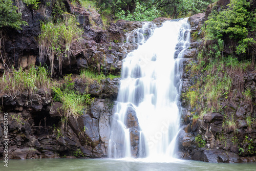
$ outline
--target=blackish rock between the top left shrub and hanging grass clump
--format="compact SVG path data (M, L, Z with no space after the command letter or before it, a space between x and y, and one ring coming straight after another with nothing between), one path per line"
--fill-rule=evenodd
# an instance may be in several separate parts
M23 2L19 2L24 4ZM27 58L29 55L33 56L32 59L28 59L24 65L30 65L34 62L38 55L38 41L36 37L40 34L40 21L44 20L42 16L36 10L30 10L27 5L20 5L20 10L22 12L22 18L28 23L28 26L22 26L22 30L16 31L14 29L7 29L5 33L4 48L1 51L2 54L7 55L10 64L14 64L15 68L19 67L19 59ZM7 59L6 59L7 60ZM9 65L9 64L8 64ZM26 67L27 67L26 66Z

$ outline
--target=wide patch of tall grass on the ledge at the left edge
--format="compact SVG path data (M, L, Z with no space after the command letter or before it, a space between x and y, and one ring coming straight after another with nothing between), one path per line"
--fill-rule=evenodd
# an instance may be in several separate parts
M48 91L51 86L51 80L45 67L37 69L31 67L28 71L22 68L13 72L5 72L0 81L0 94L16 94L17 91L29 91L32 93L41 88Z

